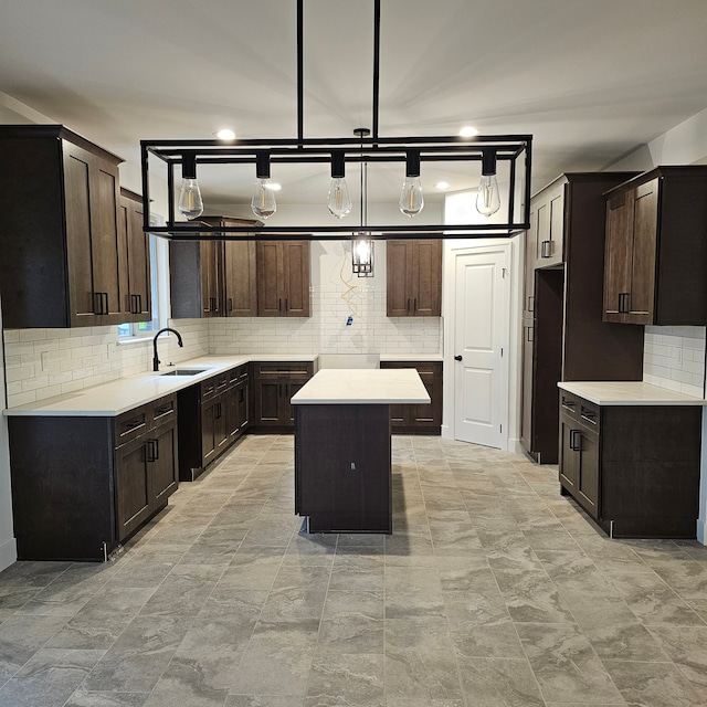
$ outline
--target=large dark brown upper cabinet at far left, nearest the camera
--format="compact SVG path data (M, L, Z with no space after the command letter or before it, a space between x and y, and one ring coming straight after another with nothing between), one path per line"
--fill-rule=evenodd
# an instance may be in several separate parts
M4 327L125 320L120 161L61 125L0 126Z

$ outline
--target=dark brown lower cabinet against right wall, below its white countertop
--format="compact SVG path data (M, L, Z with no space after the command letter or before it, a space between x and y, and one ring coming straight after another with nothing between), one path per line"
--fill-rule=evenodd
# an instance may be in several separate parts
M694 538L700 436L700 407L597 405L561 390L561 492L611 537Z

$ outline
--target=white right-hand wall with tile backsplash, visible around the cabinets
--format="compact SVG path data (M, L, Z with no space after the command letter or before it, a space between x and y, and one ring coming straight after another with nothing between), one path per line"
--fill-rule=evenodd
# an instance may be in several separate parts
M707 163L707 109L610 165L608 169L648 170L667 165ZM646 327L644 380L707 400L705 327ZM703 455L697 539L707 545L707 409L703 415Z

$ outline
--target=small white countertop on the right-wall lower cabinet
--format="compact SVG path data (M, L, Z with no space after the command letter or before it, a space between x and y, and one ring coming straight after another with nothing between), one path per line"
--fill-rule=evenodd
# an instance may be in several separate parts
M707 405L707 400L642 381L571 381L558 388L598 405Z

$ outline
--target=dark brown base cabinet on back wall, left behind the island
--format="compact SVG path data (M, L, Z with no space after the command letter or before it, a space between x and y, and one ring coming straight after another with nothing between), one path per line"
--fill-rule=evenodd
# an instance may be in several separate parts
M312 361L253 361L254 432L294 432L289 399L314 376Z

